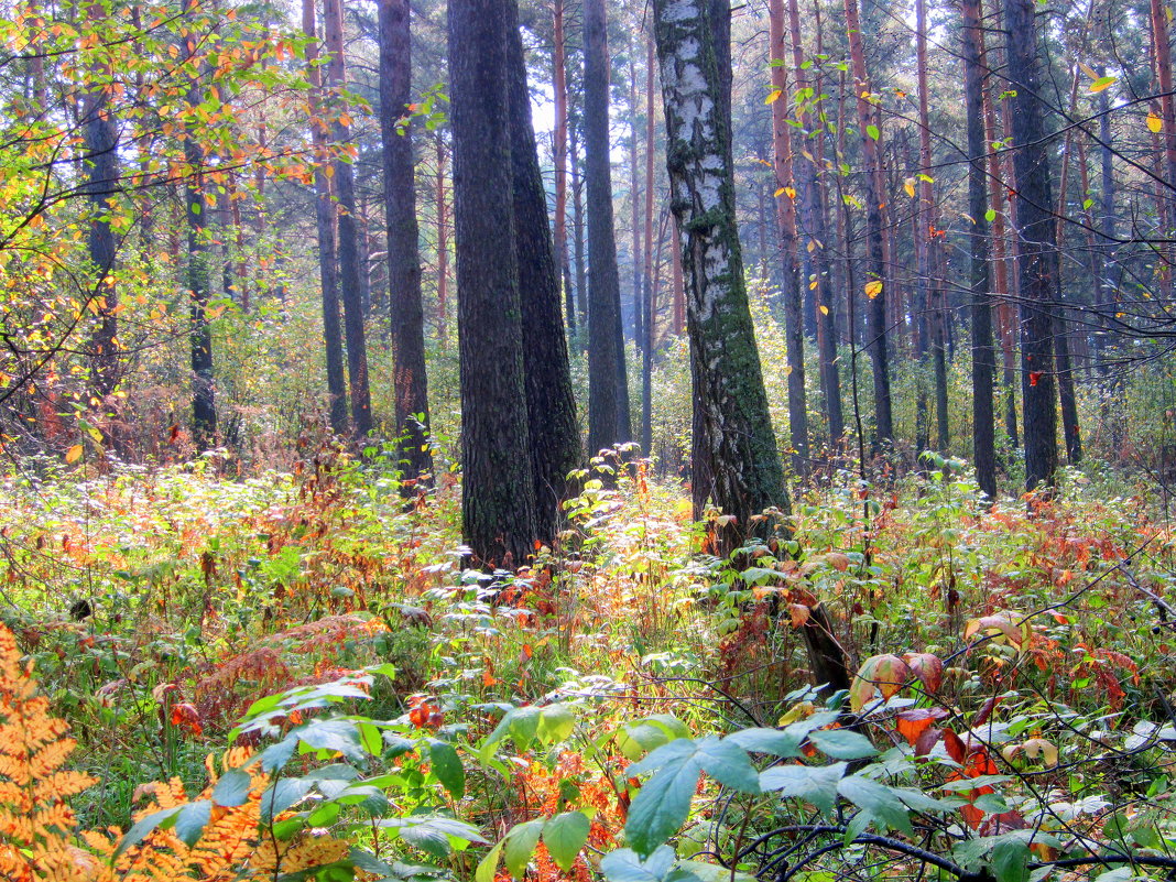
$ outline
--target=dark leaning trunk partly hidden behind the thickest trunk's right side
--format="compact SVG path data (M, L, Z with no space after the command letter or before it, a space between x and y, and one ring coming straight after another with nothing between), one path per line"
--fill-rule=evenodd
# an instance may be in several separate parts
M547 192L539 167L519 11L506 0L507 91L514 189L514 243L519 263L530 468L535 485L536 537L552 542L560 524L567 476L580 465L568 343L560 314L560 275L547 220Z

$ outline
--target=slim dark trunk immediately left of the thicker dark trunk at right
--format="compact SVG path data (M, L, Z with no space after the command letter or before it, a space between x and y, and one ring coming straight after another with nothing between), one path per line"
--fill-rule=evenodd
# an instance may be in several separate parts
M918 0L922 5L923 0ZM968 116L968 214L973 219L971 258L971 427L976 481L989 499L996 499L996 445L993 415L993 299L989 294L988 182L984 155L984 55L981 48L980 0L962 6L964 101Z

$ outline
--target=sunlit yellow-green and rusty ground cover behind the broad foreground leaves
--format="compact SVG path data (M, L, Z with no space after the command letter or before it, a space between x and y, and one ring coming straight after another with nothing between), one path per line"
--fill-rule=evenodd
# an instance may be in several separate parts
M432 787L494 842L590 806L599 854L634 794L634 721L729 733L813 713L802 632L820 601L863 671L855 710L890 699L900 715L870 723L880 749L917 753L943 719L961 733L989 723L991 750L973 775L988 777L970 796L981 808L963 810L973 830L1000 834L1014 806L1030 817L1029 781L1070 807L1067 823L1087 813L1091 829L1105 824L1135 794L1124 823L1147 808L1160 841L1172 835L1176 535L1142 488L1075 473L1048 505L985 508L962 463L868 493L843 473L799 494L791 542L754 544L735 566L700 552L683 488L642 467L615 489L589 482L534 567L488 576L461 568L454 476L406 506L379 455L323 449L289 474L249 477L229 466L82 469L0 489L2 621L79 742L73 767L98 781L73 801L83 827L126 829L146 782L179 777L198 791L206 757L265 696L390 664L363 715L452 744L466 764L457 787L429 753L416 795L394 807L419 809ZM506 748L502 714L536 707L572 708L574 730L555 714L516 714L509 756L492 756L489 744ZM1107 759L1107 743L1132 737L1155 750ZM1001 799L985 806L981 790L994 787ZM683 841L706 833L680 855L721 850L715 830L729 818L699 799ZM472 869L428 843L403 848ZM540 878L562 875L549 851L533 867ZM583 875L577 861L570 871Z

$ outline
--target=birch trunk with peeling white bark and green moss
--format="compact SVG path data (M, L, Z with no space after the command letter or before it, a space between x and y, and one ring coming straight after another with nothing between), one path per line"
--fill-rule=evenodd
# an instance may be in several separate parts
M726 550L750 534L751 517L763 509L789 509L735 225L730 69L719 60L729 58L723 44L729 14L726 0L654 2L666 167L682 235L694 423L701 432L694 443L694 506L701 515L713 501L734 516L719 536Z

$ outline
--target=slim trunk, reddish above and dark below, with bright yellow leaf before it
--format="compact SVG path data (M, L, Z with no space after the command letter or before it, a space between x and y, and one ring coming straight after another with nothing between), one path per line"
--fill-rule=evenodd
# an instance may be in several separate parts
M846 2L846 33L853 62L854 94L857 96L857 123L862 136L862 158L866 178L866 248L869 309L866 350L874 374L875 441L894 439L894 417L890 407L890 361L887 345L886 253L882 243L882 132L876 108L869 100L870 83L866 71L866 48L862 46L862 26L857 0ZM855 292L849 292L855 296Z

